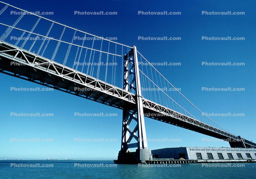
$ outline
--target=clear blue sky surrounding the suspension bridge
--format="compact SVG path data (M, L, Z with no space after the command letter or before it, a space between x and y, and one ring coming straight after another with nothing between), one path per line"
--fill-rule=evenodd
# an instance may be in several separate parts
M254 1L15 1L28 11L53 11L45 16L118 42L135 45L150 62L181 62L156 68L207 113L244 113L245 117L212 117L248 140L255 138ZM2 9L2 6L0 7ZM74 15L74 11L116 11L118 15ZM138 15L138 11L180 11L181 15ZM244 11L245 15L201 15L201 11ZM1 18L1 17L0 17ZM142 41L138 36L181 37L180 41ZM203 41L202 36L245 37L244 41ZM245 66L202 66L201 62L244 62ZM113 159L121 146L122 111L61 91L10 91L37 84L0 74L0 159ZM245 88L245 91L202 91L202 87ZM10 113L53 113L54 117L10 117ZM74 113L113 113L116 117L74 117ZM180 139L148 142L150 149L179 146L228 147L227 142L203 142L208 136L145 118L147 138ZM13 142L54 139L54 142ZM115 139L114 142L75 142L74 138Z

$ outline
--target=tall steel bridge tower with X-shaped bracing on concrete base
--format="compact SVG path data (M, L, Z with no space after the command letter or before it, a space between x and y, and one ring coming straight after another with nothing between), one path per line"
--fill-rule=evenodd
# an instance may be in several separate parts
M152 154L147 147L139 64L135 46L124 56L124 89L135 91L136 105L126 106L123 109L122 144L116 163L145 163L145 160L152 159ZM133 130L129 128L132 120L136 124ZM132 139L136 142L130 143ZM136 151L130 152L130 148L135 147L137 147Z

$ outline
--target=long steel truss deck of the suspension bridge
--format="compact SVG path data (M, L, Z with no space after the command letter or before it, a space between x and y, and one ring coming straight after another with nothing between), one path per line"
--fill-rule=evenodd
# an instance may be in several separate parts
M3 41L0 41L0 72L119 109L132 109L136 103L133 93ZM239 136L145 98L143 110L146 117L155 120L227 141L239 140ZM244 143L247 147L256 147L251 141L244 140Z

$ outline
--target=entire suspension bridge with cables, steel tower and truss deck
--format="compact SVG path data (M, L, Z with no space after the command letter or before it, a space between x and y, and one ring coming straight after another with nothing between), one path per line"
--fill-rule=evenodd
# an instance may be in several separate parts
M135 46L0 5L0 72L123 110L120 162L152 158L144 117L256 148L206 116Z

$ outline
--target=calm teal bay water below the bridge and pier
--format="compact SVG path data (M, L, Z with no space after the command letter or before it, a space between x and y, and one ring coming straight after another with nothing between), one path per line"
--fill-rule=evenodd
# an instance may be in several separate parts
M53 167L49 164L53 164ZM0 178L256 178L256 163L236 164L243 164L244 167L202 167L202 164L138 167L124 164L115 166L112 161L102 160L2 160Z

